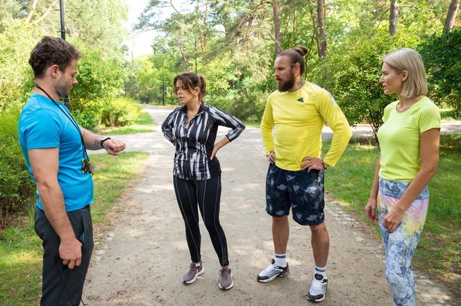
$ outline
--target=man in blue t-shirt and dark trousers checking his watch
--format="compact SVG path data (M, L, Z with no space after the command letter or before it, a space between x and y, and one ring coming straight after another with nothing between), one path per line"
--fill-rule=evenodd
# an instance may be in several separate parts
M81 128L60 103L77 84L81 53L57 37L43 37L29 58L33 94L19 117L19 143L37 185L35 232L43 243L40 305L80 305L93 250L92 167L86 149L118 155L124 142Z

